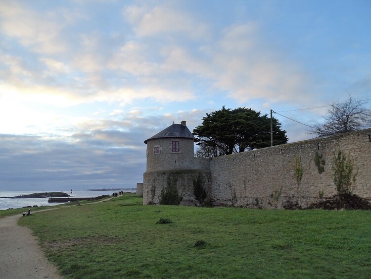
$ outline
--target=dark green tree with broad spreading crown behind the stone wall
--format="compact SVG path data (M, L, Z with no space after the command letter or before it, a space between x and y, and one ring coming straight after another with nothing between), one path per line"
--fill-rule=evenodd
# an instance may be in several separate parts
M287 142L286 131L280 129L280 123L273 119L275 144ZM201 146L199 157L204 154L216 157L255 148L270 146L270 118L260 115L252 109L226 109L206 113L202 124L194 128L195 142ZM196 152L196 154L197 154ZM210 156L212 155L212 156Z

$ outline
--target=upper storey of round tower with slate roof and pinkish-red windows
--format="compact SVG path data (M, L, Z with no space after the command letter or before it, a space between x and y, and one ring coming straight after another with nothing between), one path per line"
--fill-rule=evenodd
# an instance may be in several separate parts
M193 135L185 125L172 124L145 140L146 172L193 168Z

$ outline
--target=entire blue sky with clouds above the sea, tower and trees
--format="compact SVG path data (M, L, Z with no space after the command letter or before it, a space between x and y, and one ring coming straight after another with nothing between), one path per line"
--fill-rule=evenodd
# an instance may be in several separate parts
M325 106L371 99L370 14L370 0L0 0L0 191L135 188L144 140L223 106L313 138L303 124Z

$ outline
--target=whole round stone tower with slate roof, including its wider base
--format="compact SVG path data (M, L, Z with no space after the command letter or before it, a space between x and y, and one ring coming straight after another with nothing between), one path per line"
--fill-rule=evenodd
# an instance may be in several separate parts
M172 124L145 140L147 168L143 174L143 204L160 202L161 190L168 179L176 181L183 205L196 205L192 181L199 173L210 181L210 160L194 158L193 135L185 125Z

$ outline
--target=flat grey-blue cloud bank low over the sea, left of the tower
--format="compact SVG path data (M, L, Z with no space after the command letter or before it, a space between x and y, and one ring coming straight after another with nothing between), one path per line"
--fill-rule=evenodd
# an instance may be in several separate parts
M134 188L142 180L145 149L104 150L92 145L88 149L81 143L58 140L6 135L0 138L4 143L1 153L6 156L6 160L0 158L2 190Z

